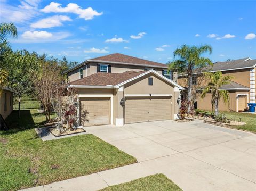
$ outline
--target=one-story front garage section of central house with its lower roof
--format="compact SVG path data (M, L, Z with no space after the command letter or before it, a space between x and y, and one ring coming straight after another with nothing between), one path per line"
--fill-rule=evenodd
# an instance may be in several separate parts
M183 89L155 70L97 72L66 87L77 89L78 110L87 113L81 126L176 119Z

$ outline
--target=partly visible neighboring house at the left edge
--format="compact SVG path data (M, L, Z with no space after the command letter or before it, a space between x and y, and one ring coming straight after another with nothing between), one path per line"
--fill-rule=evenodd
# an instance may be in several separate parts
M13 91L4 88L0 94L0 114L4 119L12 112L13 109Z

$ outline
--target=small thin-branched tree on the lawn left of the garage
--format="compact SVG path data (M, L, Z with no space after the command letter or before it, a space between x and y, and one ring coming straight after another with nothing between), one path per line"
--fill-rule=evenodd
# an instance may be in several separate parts
M59 94L58 89L64 81L61 69L51 61L42 60L41 69L33 78L35 95L43 106L46 121L51 122L53 99Z

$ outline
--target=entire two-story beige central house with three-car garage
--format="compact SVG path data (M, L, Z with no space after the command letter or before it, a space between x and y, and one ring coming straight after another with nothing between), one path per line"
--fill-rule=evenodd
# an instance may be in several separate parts
M77 88L79 112L87 112L87 120L80 116L79 123L123 126L177 118L183 88L171 80L173 72L164 71L165 64L123 54L87 60L70 69L66 87Z

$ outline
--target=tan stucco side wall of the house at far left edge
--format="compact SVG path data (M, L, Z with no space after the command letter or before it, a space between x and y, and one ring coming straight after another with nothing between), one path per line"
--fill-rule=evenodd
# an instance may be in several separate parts
M7 111L4 111L4 93L6 93ZM0 94L0 114L4 119L7 118L13 110L13 101L10 106L10 97L13 99L13 93L7 90L3 90L2 94Z

